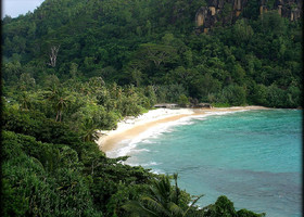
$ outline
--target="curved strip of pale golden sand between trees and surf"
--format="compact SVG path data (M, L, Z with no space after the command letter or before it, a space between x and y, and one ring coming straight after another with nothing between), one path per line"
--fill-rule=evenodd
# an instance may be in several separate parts
M106 152L118 149L118 144L124 140L132 140L161 124L172 123L182 117L200 116L206 114L218 114L227 112L244 112L251 110L269 110L264 106L235 106L235 107L213 107L213 108L156 108L138 117L125 117L117 124L115 130L99 130L99 139L96 141L99 149Z

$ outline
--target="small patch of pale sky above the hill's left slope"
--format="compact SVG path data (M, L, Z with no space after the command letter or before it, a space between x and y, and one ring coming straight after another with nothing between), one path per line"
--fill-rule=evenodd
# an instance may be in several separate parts
M43 0L2 0L2 17L10 15L17 17L20 14L33 12Z

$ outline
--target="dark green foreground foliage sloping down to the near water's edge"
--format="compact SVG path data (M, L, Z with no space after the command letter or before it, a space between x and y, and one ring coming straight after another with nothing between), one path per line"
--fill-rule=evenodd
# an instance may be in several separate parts
M125 165L127 157L107 158L68 124L5 103L1 216L264 216L236 210L226 196L199 209L201 196L181 191L177 175L172 186L168 176Z

